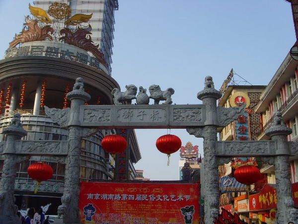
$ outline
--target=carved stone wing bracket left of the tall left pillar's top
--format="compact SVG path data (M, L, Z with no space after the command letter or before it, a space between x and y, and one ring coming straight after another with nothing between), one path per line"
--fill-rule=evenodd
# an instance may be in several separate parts
M70 108L56 109L48 108L45 106L46 114L52 118L55 123L60 124L62 127L66 127L69 120Z

